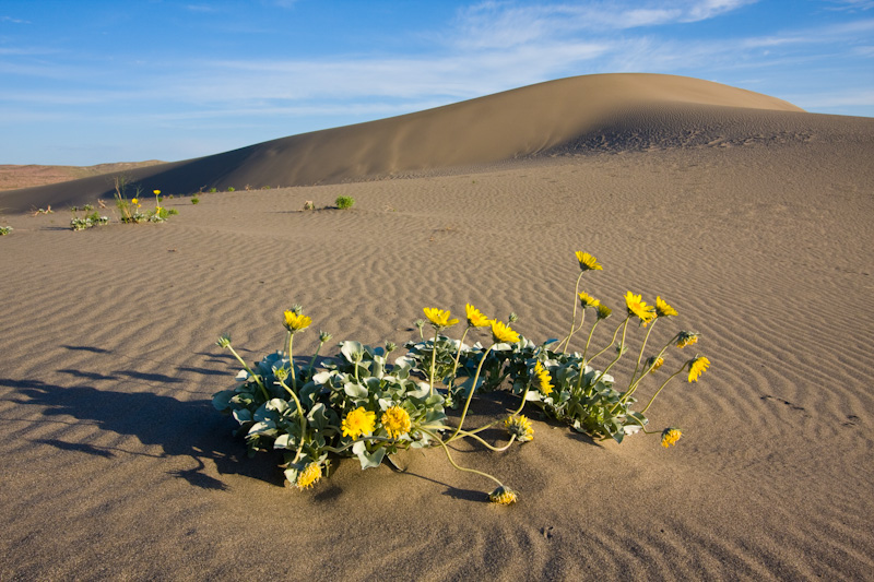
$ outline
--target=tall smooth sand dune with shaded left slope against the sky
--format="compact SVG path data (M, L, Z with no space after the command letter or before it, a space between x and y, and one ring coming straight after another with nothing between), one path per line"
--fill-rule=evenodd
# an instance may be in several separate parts
M587 75L128 174L146 192L174 193L359 181L555 155L641 116L645 122L636 127L656 130L662 139L701 131L700 116L723 118L727 129L746 135L753 131L743 115L748 109L801 111L773 97L697 79ZM693 110L698 116L689 119ZM659 124L647 123L649 118L660 118ZM759 129L773 131L768 123ZM4 193L0 207L23 212L111 198L111 181L102 176Z

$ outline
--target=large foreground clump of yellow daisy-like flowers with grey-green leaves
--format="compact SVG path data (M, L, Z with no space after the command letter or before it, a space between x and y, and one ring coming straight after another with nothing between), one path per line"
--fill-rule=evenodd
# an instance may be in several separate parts
M628 292L624 297L625 318L613 330L611 342L595 351L591 345L594 331L613 316L613 310L579 289L582 275L600 271L602 265L583 252L577 253L577 260L581 272L575 288L571 323L560 341L534 344L509 324L486 318L470 304L465 306L464 331L459 340L450 338L444 332L460 320L448 310L428 307L423 312L434 335L425 340L425 321L417 321L422 341L408 343L408 353L393 363L389 361L389 355L397 349L392 343L374 348L344 341L338 345L339 354L317 366L319 352L331 335L320 332L316 354L303 364L295 361L294 337L312 321L300 306L294 306L284 312L287 351L270 354L251 367L234 349L229 336L218 340L217 345L229 349L243 369L237 373L236 388L217 392L213 405L237 420L236 433L245 436L250 455L282 450L285 476L299 489L312 487L338 456L355 456L362 468L370 468L383 461L393 464L392 455L403 449L440 447L456 468L497 484L488 494L491 501L516 502L516 491L493 475L460 466L447 446L469 438L499 452L513 442L533 440L532 423L521 414L528 403L592 438L622 442L636 432L659 433L663 447L675 444L681 430L674 426L649 430L645 414L671 380L685 372L688 382L696 382L710 361L699 355L684 359L651 391L647 405L639 412L633 409L637 402L634 396L643 381L663 366L669 349L694 345L699 334L680 331L659 349L648 349L657 324L677 316L677 311L661 297L656 298L654 305L647 305L641 295ZM595 319L584 347L581 352L570 352L574 335L582 330L587 312L592 312ZM516 316L511 314L509 322L515 321ZM610 371L630 348L628 326L633 322L647 331L636 349L634 372L619 390ZM491 332L491 342L465 344L469 332L476 333L480 329ZM603 369L593 366L600 359L604 360ZM506 390L518 397L518 407L504 418L465 429L464 420L477 390ZM460 417L451 424L445 414L447 406L461 407ZM491 443L480 436L499 424L507 430L506 443Z

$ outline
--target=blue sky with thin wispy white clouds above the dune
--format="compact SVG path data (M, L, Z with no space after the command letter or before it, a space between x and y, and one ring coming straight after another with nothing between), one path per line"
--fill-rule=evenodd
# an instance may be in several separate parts
M185 159L611 72L874 117L874 0L2 0L0 164Z

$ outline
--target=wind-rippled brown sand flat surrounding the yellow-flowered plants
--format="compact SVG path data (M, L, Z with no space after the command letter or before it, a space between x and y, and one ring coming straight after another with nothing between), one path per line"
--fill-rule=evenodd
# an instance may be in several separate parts
M8 213L0 580L870 579L874 120L681 102L605 112L554 157L176 198L161 225ZM338 195L355 206L299 211ZM656 338L702 333L711 368L650 411L683 428L671 449L532 407L533 442L457 448L516 506L439 450L299 492L210 404L236 371L217 336L258 359L294 302L302 355L318 329L402 343L466 301L556 336L576 250L616 311L627 289L677 308ZM475 399L475 420L508 404Z

